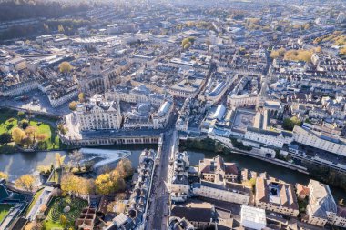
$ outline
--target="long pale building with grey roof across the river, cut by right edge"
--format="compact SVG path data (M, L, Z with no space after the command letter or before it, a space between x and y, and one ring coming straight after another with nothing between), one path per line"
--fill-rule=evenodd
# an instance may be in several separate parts
M346 140L340 136L328 135L300 126L294 126L293 135L294 140L300 144L346 156Z

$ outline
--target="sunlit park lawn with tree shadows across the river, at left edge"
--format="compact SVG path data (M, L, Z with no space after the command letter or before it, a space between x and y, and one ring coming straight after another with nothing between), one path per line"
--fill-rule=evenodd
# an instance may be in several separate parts
M17 112L10 109L0 109L0 115L0 134L11 133L12 129L18 126L20 120L26 119L25 117L18 117ZM30 119L29 124L36 127L37 134L46 135L46 139L38 145L40 150L54 150L60 148L61 142L58 135L56 135L56 127L49 125L54 122L54 119L43 116L36 116Z

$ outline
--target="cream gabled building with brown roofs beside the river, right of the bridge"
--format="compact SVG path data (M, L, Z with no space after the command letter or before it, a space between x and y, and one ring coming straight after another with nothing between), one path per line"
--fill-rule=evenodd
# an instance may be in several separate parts
M234 163L225 163L221 156L199 161L198 175L201 179L219 183L223 180L235 181L238 178L238 167Z

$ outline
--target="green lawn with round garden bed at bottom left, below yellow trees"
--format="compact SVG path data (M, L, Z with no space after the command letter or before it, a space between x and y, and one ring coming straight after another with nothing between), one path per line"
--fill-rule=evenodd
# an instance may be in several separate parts
M64 208L66 206L70 207L70 211L64 213ZM79 198L71 198L67 195L65 197L56 197L54 201L48 207L48 214L46 215L45 225L46 229L51 229L49 227L61 227L60 216L65 215L67 219L67 225L73 226L75 224L76 218L80 215L83 208L87 206L85 200Z

